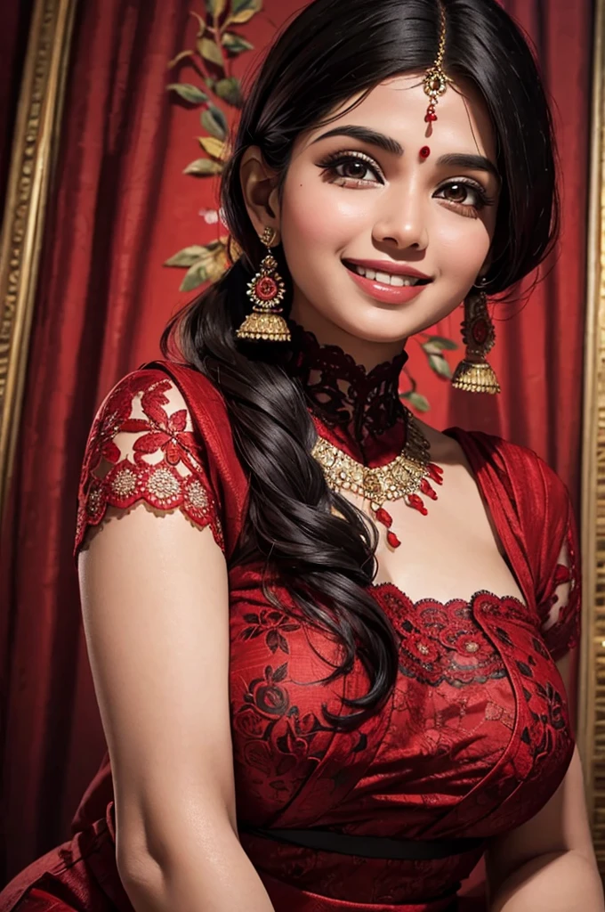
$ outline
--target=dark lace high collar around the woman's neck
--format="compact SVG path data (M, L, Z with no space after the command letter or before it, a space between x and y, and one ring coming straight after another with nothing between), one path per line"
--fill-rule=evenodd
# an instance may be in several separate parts
M341 443L350 444L350 454L369 464L403 447L399 375L408 358L405 350L366 371L341 347L321 345L313 332L292 319L288 326L292 342L283 366L300 381L312 413L336 431Z

